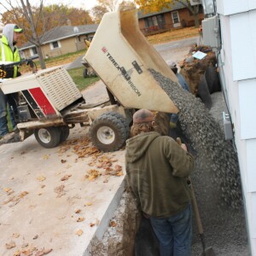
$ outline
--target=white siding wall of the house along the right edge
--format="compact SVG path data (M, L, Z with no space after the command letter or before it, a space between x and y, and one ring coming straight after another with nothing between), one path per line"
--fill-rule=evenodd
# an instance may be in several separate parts
M225 95L235 127L248 236L256 256L256 1L217 0Z

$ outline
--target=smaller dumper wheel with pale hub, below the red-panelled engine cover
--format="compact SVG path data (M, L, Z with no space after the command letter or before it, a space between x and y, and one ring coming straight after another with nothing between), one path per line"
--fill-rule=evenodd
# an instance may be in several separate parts
M38 143L44 148L55 148L61 142L59 127L45 127L34 131Z

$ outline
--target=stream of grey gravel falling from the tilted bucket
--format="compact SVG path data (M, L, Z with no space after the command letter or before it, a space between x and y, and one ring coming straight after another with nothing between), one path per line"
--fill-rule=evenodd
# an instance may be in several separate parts
M218 186L218 194L225 204L240 207L241 178L232 143L224 140L223 131L199 98L160 73L154 70L150 72L177 106L184 136L189 139L197 161L211 172L207 182Z

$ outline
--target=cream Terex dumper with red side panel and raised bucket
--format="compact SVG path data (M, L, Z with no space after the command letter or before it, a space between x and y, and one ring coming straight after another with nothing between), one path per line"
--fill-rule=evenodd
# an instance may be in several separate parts
M137 10L104 15L84 61L106 84L109 101L86 104L63 67L48 68L0 84L4 94L18 93L16 121L21 140L34 133L44 148L65 141L75 124L90 126L92 143L102 151L114 151L129 137L136 109L177 113L165 90L148 71L177 78L140 32Z

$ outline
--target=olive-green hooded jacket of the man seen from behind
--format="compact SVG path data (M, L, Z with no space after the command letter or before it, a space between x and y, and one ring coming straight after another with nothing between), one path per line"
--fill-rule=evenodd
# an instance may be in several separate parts
M128 183L143 212L170 218L189 205L185 177L194 159L171 137L150 131L126 141L125 168Z

